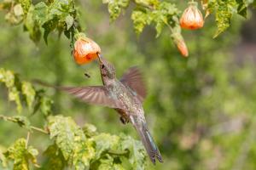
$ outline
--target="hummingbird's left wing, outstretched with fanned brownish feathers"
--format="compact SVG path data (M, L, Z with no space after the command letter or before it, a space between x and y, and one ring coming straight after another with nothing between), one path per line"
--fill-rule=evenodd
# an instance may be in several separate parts
M121 109L119 100L111 98L108 89L103 86L88 86L80 88L60 87L60 89L92 105L102 105L111 108Z

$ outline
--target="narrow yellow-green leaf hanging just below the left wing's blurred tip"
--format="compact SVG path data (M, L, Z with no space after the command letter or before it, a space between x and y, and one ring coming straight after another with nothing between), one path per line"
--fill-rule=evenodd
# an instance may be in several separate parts
M26 97L26 105L28 106L29 111L32 111L32 104L36 95L35 89L30 82L21 82L21 91Z

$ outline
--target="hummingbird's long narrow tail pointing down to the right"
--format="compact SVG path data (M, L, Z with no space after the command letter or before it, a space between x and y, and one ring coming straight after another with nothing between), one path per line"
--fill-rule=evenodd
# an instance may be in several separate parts
M155 158L158 161L163 162L162 156L160 155L160 151L158 150L156 144L154 144L154 140L151 134L148 131L148 127L146 122L138 120L137 116L131 116L131 122L139 133L140 138L143 141L144 147L148 152L148 156L150 160L155 164Z

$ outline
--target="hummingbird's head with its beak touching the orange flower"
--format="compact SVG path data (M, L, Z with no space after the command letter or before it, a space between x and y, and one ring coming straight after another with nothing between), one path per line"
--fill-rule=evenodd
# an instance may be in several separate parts
M99 61L102 77L113 79L115 77L115 69L113 65L109 63L107 59L102 58L100 55Z

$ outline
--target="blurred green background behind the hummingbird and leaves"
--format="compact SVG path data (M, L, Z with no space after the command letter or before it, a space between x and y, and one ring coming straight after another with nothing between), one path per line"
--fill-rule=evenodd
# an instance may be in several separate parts
M139 65L147 82L144 103L148 127L159 145L164 163L149 169L256 169L256 13L249 19L234 17L230 29L216 39L211 16L203 29L183 31L189 58L177 52L166 29L159 38L147 27L141 36L132 30L131 10L110 24L101 1L80 1L80 22L87 36L102 48L121 77ZM35 45L22 26L9 26L0 15L0 67L13 70L27 81L41 79L55 85L100 85L96 62L76 65L66 37L51 34L49 44ZM90 78L84 77L84 72ZM37 88L38 85L35 85ZM54 99L54 112L72 116L83 125L95 124L99 132L126 133L137 138L131 124L124 126L111 109L87 105L71 96L45 88ZM0 87L0 114L15 115ZM27 115L26 111L24 113ZM42 115L30 116L43 126ZM9 146L26 130L0 122L0 147ZM45 150L49 139L32 134L32 143Z

